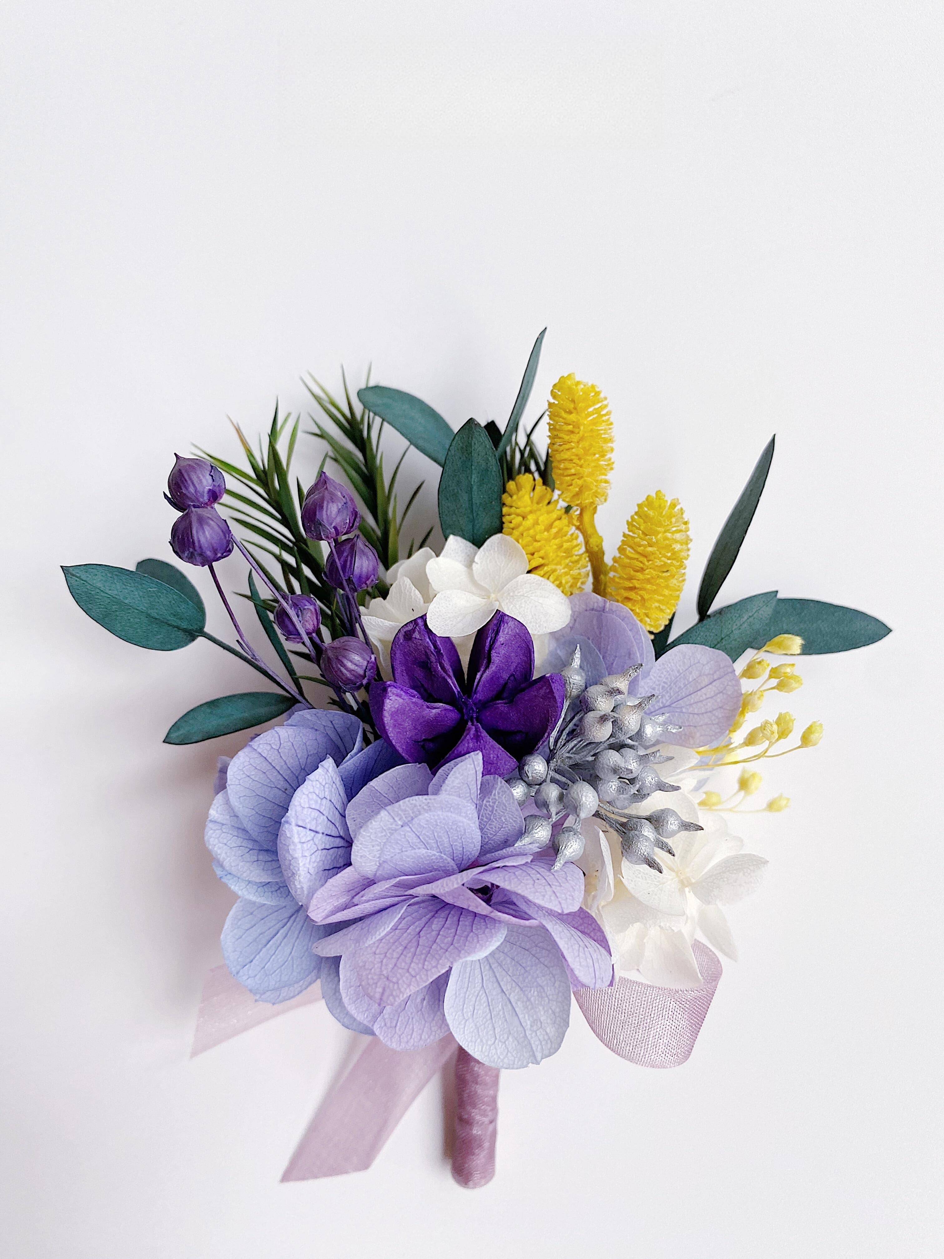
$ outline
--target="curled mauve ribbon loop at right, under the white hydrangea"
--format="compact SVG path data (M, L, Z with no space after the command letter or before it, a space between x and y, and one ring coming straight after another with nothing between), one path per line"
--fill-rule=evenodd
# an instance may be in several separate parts
M612 988L574 993L607 1049L637 1066L681 1066L688 1060L721 978L717 956L701 940L692 948L702 978L699 988L660 988L621 978Z

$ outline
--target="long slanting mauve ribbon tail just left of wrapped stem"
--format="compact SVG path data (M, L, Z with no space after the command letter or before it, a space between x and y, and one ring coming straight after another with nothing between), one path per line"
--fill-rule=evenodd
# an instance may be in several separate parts
M370 1040L318 1107L282 1180L320 1180L366 1171L454 1051L452 1036L410 1050L389 1049L376 1037Z

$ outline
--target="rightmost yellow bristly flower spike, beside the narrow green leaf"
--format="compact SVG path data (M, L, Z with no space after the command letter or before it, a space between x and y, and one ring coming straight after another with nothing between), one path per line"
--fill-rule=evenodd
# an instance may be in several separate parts
M688 521L678 500L670 501L657 490L627 521L610 564L607 594L656 633L678 607L690 546Z

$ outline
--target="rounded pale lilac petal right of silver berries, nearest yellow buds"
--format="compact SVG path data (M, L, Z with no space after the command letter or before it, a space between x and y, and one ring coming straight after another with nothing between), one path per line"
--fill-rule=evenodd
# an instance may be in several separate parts
M683 748L704 748L731 728L741 706L741 684L722 651L682 643L660 656L646 675L651 713L665 713L681 730L670 735Z

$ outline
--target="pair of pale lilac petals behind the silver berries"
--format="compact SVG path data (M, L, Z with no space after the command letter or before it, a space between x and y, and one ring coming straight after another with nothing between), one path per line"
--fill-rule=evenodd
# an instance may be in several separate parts
M588 685L642 665L629 694L656 695L649 711L681 728L672 743L702 748L726 734L740 709L741 684L722 651L682 643L656 660L649 636L622 603L584 592L571 594L570 607L570 624L550 636L545 670L569 665L574 647Z

